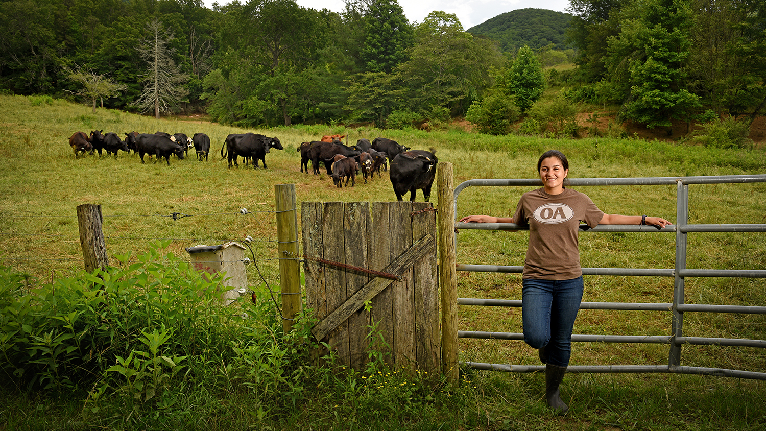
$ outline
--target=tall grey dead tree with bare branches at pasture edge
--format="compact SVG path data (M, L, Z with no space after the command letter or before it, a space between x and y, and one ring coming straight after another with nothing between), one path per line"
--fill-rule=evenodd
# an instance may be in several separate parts
M146 25L146 31L149 36L139 42L136 50L146 60L149 70L143 75L144 90L136 100L136 106L142 113L154 109L154 116L159 119L160 113L168 112L188 94L182 87L188 82L188 75L182 73L181 67L173 61L175 50L168 47L173 39L172 31L163 28L156 18Z

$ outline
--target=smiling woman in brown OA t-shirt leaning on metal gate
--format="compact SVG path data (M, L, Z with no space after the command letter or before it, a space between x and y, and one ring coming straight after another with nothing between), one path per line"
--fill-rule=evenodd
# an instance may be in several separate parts
M578 249L580 221L597 224L670 224L661 217L604 214L583 193L566 188L569 162L550 150L540 156L537 171L543 187L522 195L513 217L473 215L463 223L516 223L529 226L522 275L524 341L538 349L545 364L545 398L556 413L569 408L558 386L571 354L571 335L582 300L583 279Z

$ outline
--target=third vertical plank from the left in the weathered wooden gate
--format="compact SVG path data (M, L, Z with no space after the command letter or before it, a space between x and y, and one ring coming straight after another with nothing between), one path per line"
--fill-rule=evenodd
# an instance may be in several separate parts
M345 232L345 263L362 268L367 267L367 202L349 202L343 205L343 230ZM345 273L346 294L354 295L371 279L371 276L347 271ZM349 316L349 354L351 367L362 368L367 359L366 340L369 329L368 312L356 310Z

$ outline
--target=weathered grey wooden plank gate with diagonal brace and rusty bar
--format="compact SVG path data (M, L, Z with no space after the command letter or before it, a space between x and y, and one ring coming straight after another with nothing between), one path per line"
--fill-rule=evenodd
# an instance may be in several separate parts
M303 202L306 306L319 318L312 332L341 364L368 362L375 325L388 344L376 350L388 364L440 369L432 210L424 202Z

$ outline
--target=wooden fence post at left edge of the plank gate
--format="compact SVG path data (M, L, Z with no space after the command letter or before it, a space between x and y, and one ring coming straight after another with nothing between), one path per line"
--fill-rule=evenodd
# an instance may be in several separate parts
M282 293L282 328L293 329L295 316L301 311L300 256L298 255L298 208L295 184L274 185L277 208L277 242L280 260L280 292Z

